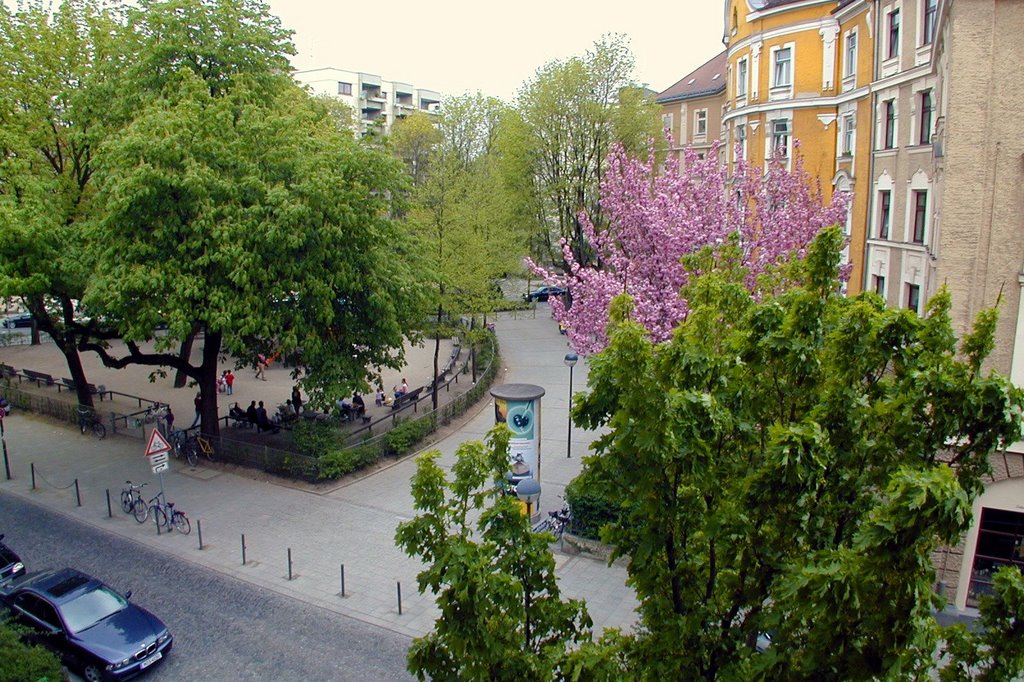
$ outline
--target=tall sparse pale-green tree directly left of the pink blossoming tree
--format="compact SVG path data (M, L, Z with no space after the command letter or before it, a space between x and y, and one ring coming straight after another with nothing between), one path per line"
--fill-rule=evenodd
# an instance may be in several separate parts
M654 104L634 81L633 71L626 39L604 36L582 57L539 69L517 97L524 123L518 140L524 144L511 148L526 155L537 226L544 236L543 260L553 259L566 272L557 241L569 245L577 262L586 265L593 259L579 216L586 211L595 224L604 224L598 200L612 143L638 153L648 139L660 137Z

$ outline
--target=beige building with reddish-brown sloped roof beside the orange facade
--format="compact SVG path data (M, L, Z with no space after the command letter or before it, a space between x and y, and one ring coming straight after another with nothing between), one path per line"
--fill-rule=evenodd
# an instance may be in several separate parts
M683 161L683 150L692 146L702 159L722 132L725 105L725 51L658 93L662 127L672 134L671 152Z

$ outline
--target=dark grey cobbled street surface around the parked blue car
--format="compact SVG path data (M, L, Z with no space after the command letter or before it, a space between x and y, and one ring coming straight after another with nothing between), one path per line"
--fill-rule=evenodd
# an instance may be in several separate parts
M410 639L163 555L0 493L0 532L27 568L70 565L174 635L143 680L409 680Z

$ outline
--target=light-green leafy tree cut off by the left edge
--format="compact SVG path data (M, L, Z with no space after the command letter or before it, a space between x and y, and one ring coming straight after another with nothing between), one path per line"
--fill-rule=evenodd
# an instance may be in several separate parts
M79 356L89 276L84 230L95 159L116 115L110 75L124 66L123 15L89 0L0 5L0 296L19 297L65 355L78 400L92 395Z

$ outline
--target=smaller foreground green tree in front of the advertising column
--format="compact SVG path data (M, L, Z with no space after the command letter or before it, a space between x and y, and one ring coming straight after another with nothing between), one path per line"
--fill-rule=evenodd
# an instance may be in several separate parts
M437 596L434 630L416 639L409 670L420 680L557 679L568 648L590 638L578 600L562 601L548 534L530 532L519 502L504 488L510 432L487 445L459 446L449 480L439 452L417 458L417 517L395 542L427 567L421 592Z

